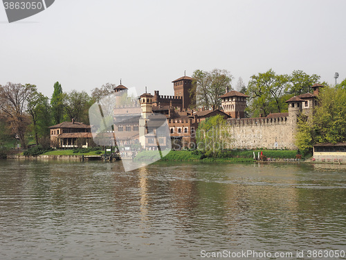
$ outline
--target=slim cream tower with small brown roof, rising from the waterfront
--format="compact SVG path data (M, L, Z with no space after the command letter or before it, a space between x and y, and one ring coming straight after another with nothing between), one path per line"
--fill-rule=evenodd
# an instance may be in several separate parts
M142 109L142 116L139 119L139 141L145 148L145 135L147 134L147 121L152 115L152 94L145 93L139 97L140 108Z

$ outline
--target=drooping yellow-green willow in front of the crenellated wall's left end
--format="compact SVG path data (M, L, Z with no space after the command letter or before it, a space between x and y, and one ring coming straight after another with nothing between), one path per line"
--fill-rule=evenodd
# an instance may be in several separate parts
M212 150L215 153L229 148L231 138L224 117L218 114L201 121L196 139L198 148L202 150Z

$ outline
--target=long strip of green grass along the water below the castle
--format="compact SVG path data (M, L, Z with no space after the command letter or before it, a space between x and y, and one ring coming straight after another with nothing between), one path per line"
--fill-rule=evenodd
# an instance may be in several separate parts
M253 153L263 153L267 158L291 159L296 150L225 150L216 153L201 150L171 150L161 161L203 161L203 162L253 162ZM160 159L157 151L142 151L136 156L138 161Z

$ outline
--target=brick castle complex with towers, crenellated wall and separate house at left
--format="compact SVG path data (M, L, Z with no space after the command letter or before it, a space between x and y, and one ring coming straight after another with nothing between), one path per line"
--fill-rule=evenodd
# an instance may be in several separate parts
M244 118L246 109L246 94L237 91L228 91L221 98L221 108L215 110L192 110L195 107L190 98L193 87L193 78L183 76L172 81L174 96L154 95L145 92L136 100L126 103L122 98L127 93L127 87L118 85L114 88L116 106L113 107L113 135L118 146L124 148L140 145L142 148L157 149L154 131L148 128L152 114L161 114L167 120L170 131L170 140L160 139L161 146L171 142L173 149L196 148L196 130L199 123L210 116L217 114L226 119L227 130L232 137L228 148L268 148L295 150L295 134L298 130L298 116L302 113L307 118L313 114L313 108L318 105L318 92L322 85L312 86L313 94L293 96L288 101L288 112L268 114L266 117ZM120 102L121 101L121 102ZM125 101L125 103L123 103ZM154 119L152 117L152 119ZM156 120L156 119L155 119ZM152 121L155 121L152 120ZM160 119L161 120L161 119ZM91 139L89 125L78 125L75 122L69 125L53 125L51 140L60 147L75 147L79 138L84 138L84 146L88 146ZM64 129L63 129L64 128ZM66 129L65 129L66 128ZM112 136L113 136L112 135Z

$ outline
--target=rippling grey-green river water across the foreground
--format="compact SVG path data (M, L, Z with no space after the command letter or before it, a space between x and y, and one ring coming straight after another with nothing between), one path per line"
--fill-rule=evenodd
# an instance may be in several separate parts
M121 162L3 160L0 168L1 260L346 250L345 166L159 162L125 172Z

